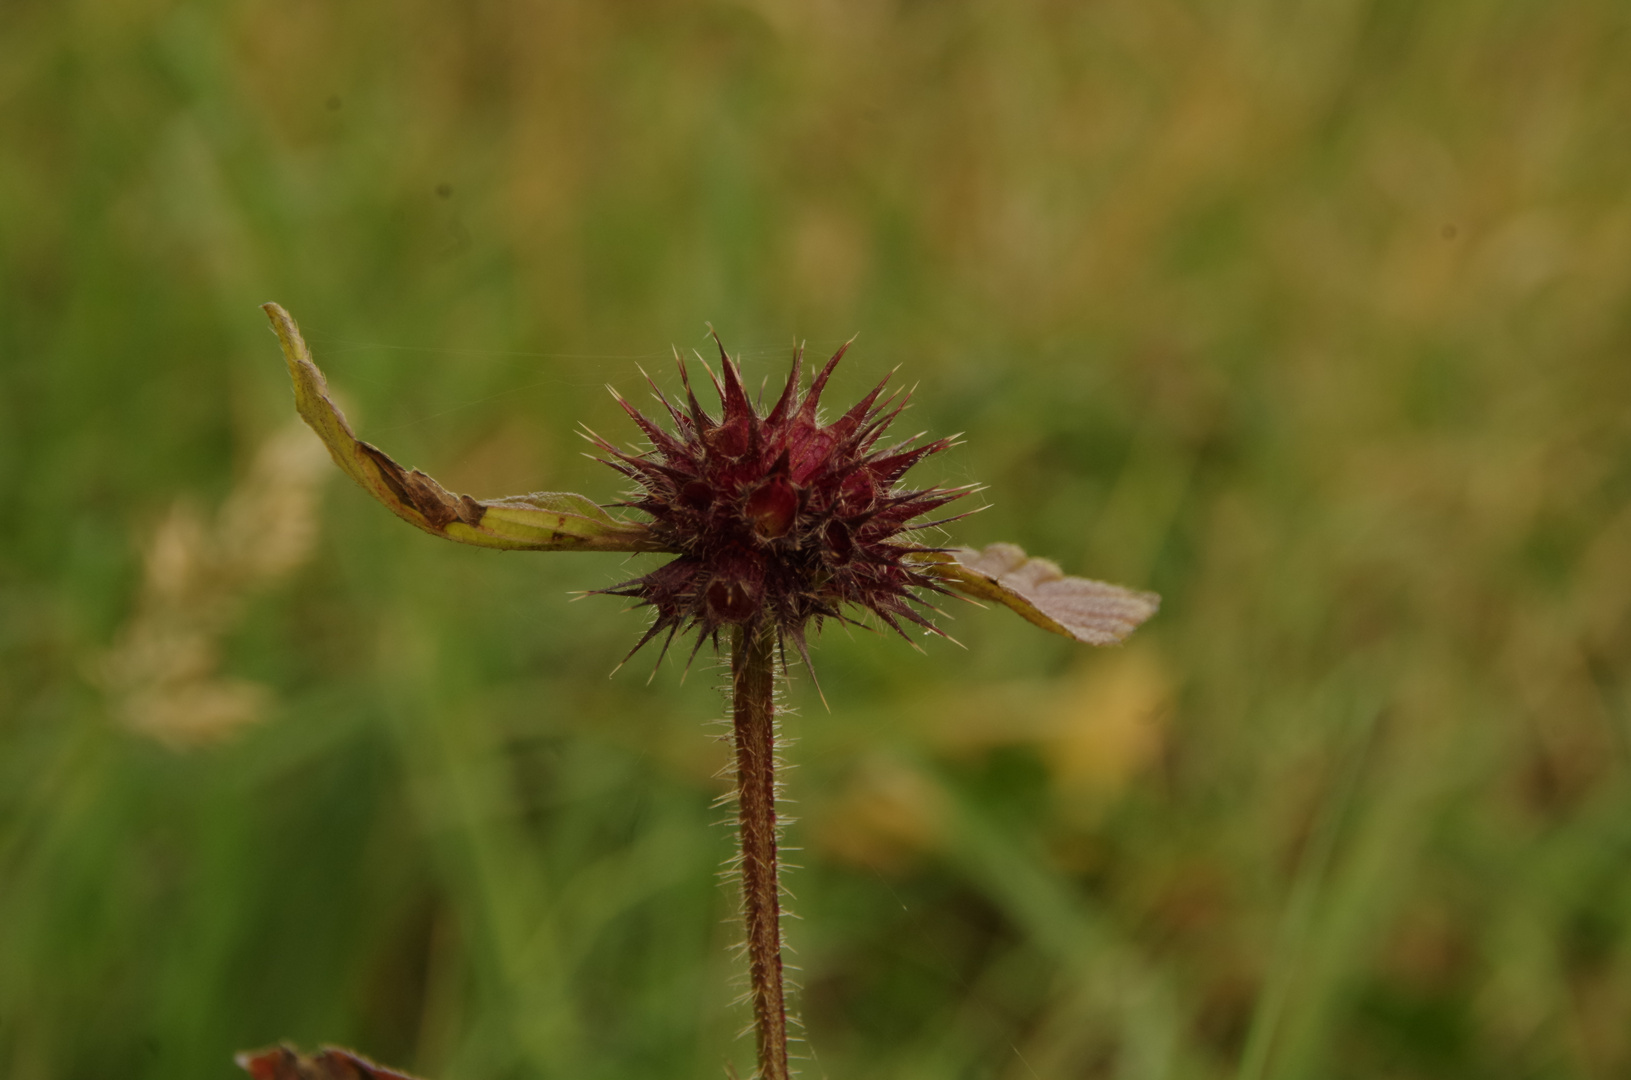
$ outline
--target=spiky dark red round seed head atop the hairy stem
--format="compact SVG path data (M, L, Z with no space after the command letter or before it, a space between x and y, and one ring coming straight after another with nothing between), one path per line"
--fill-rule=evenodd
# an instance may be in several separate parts
M638 491L623 504L651 516L651 532L678 558L607 592L656 610L636 644L667 631L695 630L696 641L718 640L723 626L773 625L804 653L811 620L846 618L866 609L905 635L902 622L931 633L935 625L913 604L917 589L939 591L908 560L925 548L904 533L939 522L917 519L967 494L970 488L905 488L902 476L949 439L884 442L884 432L908 395L884 396L887 377L832 423L819 413L822 390L848 346L801 388L802 351L768 409L749 400L736 361L719 349L713 378L721 414L711 416L692 392L678 359L685 408L656 383L652 392L672 421L664 429L621 396L618 403L651 442L626 454L590 436L612 468ZM615 392L613 392L615 393Z

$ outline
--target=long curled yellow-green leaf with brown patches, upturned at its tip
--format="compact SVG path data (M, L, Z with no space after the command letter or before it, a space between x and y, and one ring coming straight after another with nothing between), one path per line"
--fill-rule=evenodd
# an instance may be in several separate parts
M581 494L535 491L504 499L453 494L418 468L408 470L383 450L357 439L344 413L328 396L328 382L289 312L261 308L272 320L295 385L295 408L328 445L334 463L403 520L437 537L514 551L661 551L651 530L612 517Z

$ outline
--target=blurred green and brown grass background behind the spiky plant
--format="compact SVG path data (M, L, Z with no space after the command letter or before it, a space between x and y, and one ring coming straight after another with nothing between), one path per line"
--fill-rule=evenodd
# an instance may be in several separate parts
M804 1075L1631 1073L1628 52L1611 0L11 0L0 1075L750 1059L716 671L605 677L612 556L254 465L263 300L483 496L612 498L574 424L705 320L771 378L860 331L840 396L967 432L956 540L1165 594L820 640Z

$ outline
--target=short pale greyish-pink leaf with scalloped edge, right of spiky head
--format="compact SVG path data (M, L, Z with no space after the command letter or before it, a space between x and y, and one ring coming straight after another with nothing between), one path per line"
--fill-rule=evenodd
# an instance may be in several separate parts
M915 561L966 595L1006 604L1042 630L1088 644L1124 641L1161 607L1153 592L1067 578L1055 563L1029 558L1013 543L922 551Z

